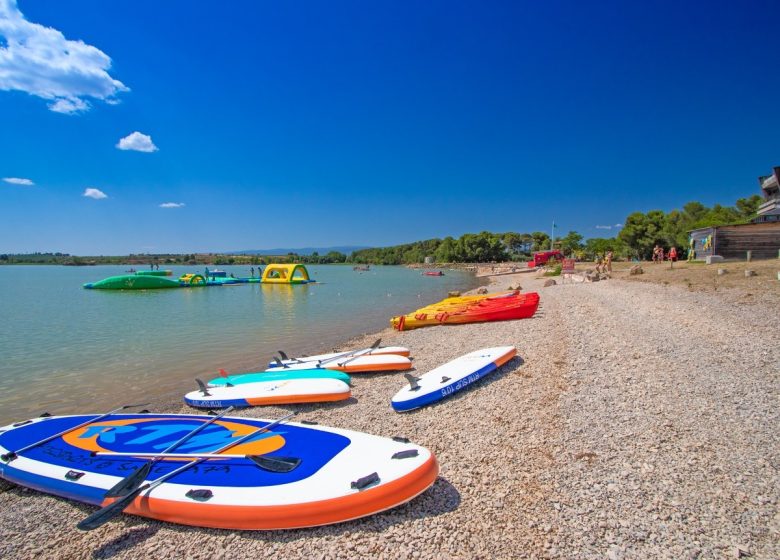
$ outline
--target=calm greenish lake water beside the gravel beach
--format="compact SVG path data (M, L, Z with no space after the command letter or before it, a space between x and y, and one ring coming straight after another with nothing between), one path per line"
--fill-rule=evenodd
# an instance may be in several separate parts
M310 266L315 284L85 290L126 266L0 266L0 422L180 398L219 368L258 371L277 350L329 351L477 285L405 267ZM169 267L174 277L203 267ZM220 267L249 276L248 267ZM0 424L1 425L1 424Z

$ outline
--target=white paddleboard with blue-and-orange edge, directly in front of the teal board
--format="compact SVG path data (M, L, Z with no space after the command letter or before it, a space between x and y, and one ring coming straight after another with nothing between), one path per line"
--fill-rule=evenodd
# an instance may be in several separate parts
M351 395L349 385L339 379L282 379L256 381L232 387L201 387L184 395L184 402L196 408L262 406L341 401Z

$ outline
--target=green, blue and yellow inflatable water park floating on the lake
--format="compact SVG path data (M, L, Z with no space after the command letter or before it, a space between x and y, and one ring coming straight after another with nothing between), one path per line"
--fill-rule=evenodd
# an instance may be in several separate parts
M309 284L314 282L302 264L269 264L262 275L236 278L224 270L205 269L203 274L188 273L172 278L171 270L143 270L132 274L109 276L88 282L88 290L162 290L167 288L200 288L234 284Z

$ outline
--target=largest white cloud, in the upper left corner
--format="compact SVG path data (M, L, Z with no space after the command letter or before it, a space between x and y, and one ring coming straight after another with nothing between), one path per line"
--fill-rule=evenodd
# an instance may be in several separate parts
M87 98L116 103L116 94L130 91L108 74L103 51L27 21L16 0L0 0L0 38L0 90L46 99L56 113L88 111Z

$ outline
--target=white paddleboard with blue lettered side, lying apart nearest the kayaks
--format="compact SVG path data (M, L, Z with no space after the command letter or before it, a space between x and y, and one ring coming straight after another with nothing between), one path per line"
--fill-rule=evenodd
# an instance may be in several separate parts
M511 360L514 346L484 348L470 352L420 377L406 375L409 384L391 400L396 412L413 410L461 391Z

